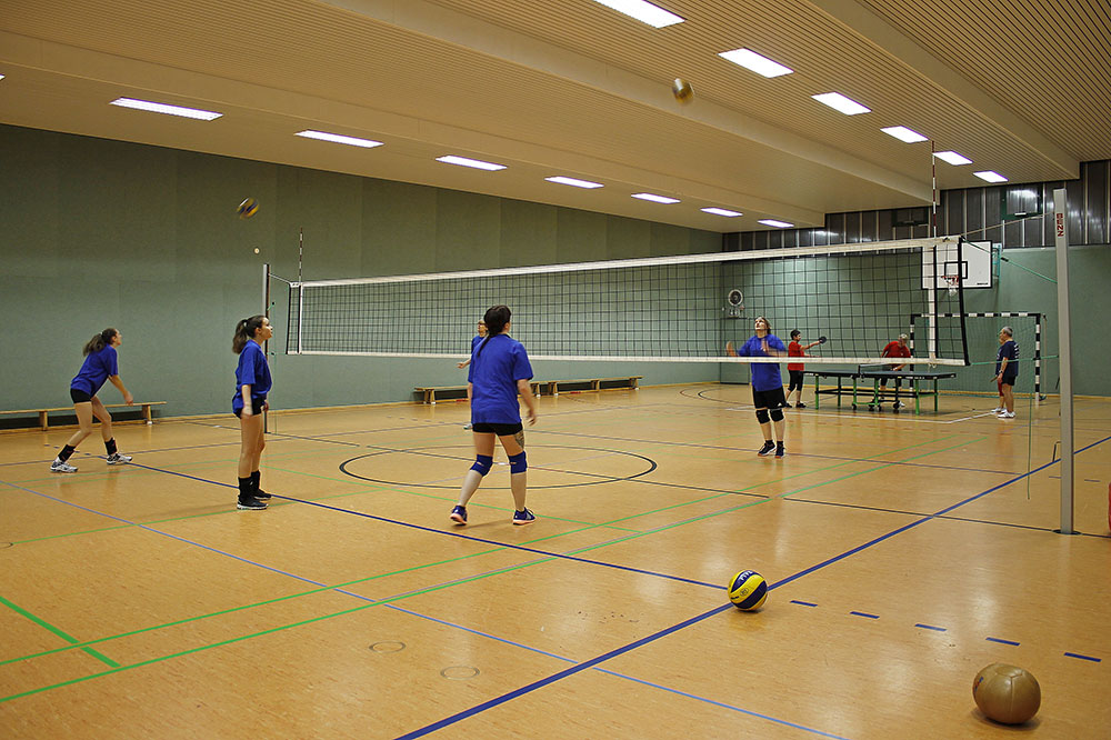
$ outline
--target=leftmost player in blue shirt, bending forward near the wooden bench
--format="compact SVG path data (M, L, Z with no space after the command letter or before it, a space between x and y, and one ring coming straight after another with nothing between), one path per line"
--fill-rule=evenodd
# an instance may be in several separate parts
M116 329L104 329L94 336L84 346L84 363L81 371L70 382L70 398L73 400L73 410L77 411L77 422L80 426L66 447L58 453L54 461L50 463L51 472L77 472L77 466L69 463L70 456L77 450L77 446L92 433L92 418L100 419L100 434L104 438L104 449L108 450L108 464L123 466L131 462L131 457L120 454L116 449L116 438L112 437L112 414L97 398L97 391L110 380L123 394L123 402L128 406L134 402L131 393L123 387L120 380L119 361L116 356L116 348L123 343L123 334Z

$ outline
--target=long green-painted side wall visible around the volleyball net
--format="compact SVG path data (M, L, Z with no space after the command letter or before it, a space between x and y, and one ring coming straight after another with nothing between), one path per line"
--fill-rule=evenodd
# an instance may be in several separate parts
M721 236L333 172L0 126L2 407L68 406L81 346L123 333L121 376L166 416L221 412L236 321L261 309L262 263L304 279L719 251ZM247 196L261 203L234 217ZM254 253L254 249L259 253ZM286 297L273 314L284 329ZM399 317L399 327L420 317ZM651 321L651 317L645 317ZM523 327L520 329L523 330ZM279 408L400 401L458 384L450 360L293 357L271 343ZM469 336L442 351L464 353ZM715 364L537 362L538 378L717 380ZM108 388L106 399L118 393Z

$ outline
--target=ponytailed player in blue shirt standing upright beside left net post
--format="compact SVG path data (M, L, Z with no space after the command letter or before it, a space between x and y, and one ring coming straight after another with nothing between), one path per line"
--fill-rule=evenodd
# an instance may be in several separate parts
M252 316L236 324L231 351L239 356L236 369L236 394L231 410L239 417L241 446L239 449L239 503L236 508L259 511L267 508L270 494L259 488L259 467L266 449L266 428L262 412L270 408L270 366L267 364L262 342L274 336L270 319Z

